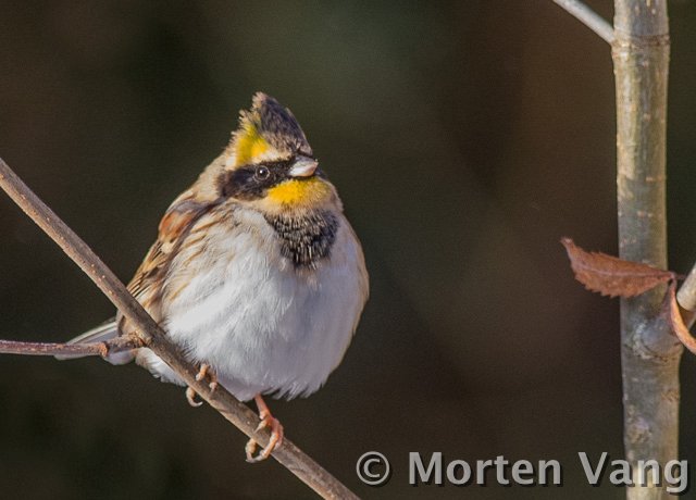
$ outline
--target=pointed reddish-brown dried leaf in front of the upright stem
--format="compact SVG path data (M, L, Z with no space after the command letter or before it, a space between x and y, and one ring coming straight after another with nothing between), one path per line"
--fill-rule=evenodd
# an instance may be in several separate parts
M658 270L601 252L587 252L572 239L561 238L575 279L592 291L609 297L635 297L656 286L675 279L671 271Z

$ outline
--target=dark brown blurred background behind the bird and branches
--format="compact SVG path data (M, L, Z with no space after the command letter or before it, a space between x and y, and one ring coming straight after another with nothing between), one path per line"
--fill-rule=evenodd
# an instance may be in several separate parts
M606 18L609 0L588 1ZM257 90L300 121L362 239L372 296L344 363L272 402L289 439L365 498L620 499L577 452L622 458L618 301L561 236L617 252L609 47L551 0L0 1L0 155L128 280L169 203ZM670 265L696 259L696 4L670 2ZM110 317L0 196L0 338ZM681 458L696 461L696 362ZM141 368L0 358L0 488L22 498L314 498ZM389 484L355 473L387 455ZM558 460L563 487L408 486L408 452ZM694 478L692 477L692 480Z

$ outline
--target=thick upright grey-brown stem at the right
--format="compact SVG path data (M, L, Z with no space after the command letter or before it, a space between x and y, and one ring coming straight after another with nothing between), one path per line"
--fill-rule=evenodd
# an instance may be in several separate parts
M667 268L664 196L669 24L667 0L616 0L619 254ZM670 498L638 480L639 460L678 457L682 347L660 316L664 289L621 301L624 447L630 500Z

